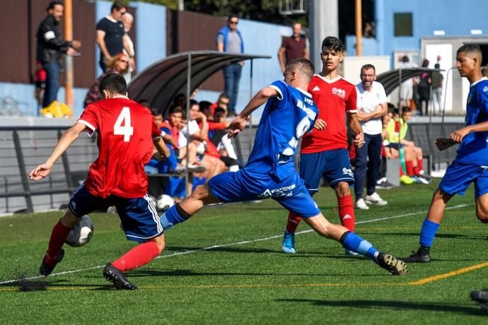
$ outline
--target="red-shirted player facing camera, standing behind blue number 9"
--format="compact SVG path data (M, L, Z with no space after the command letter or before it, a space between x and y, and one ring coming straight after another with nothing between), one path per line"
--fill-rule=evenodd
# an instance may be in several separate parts
M344 59L344 44L337 37L328 36L322 42L322 72L315 74L308 92L318 107L318 118L327 124L325 130L314 129L305 134L301 143L300 177L310 194L318 191L325 176L337 196L342 225L354 232L354 203L349 184L354 184L351 161L347 151L345 117L354 134L354 144L364 145L364 134L356 117L356 88L337 73ZM283 252L296 253L295 232L301 216L289 213L283 236ZM346 254L355 254L346 251Z

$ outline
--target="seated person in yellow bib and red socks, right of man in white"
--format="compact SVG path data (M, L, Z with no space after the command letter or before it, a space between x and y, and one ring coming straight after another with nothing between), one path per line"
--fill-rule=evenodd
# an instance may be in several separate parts
M398 119L391 119L388 123L386 132L388 134L387 139L391 158L398 158L400 156L400 148L403 148L405 150L405 169L407 176L413 182L430 184L430 179L428 179L429 177L424 172L422 148L415 146L414 141L405 139L408 129L407 122L411 115L412 109L410 107L404 107L402 116ZM402 172L402 168L400 168L400 182L403 184L411 184L405 175L401 175Z

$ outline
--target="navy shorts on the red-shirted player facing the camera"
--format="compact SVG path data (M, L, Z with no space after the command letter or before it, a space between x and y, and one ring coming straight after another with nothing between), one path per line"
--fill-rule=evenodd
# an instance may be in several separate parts
M335 187L339 182L354 184L351 160L346 149L301 154L300 177L305 181L308 191L317 192L323 176L330 187Z

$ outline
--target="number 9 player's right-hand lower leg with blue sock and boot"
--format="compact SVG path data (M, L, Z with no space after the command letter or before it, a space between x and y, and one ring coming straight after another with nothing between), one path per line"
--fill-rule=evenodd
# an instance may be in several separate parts
M350 232L342 225L329 223L322 213L315 217L304 218L304 220L319 235L337 240L342 244L344 249L349 249L352 252L368 257L368 259L374 261L378 266L385 268L385 270L394 275L405 276L407 274L407 264L405 262L400 261L393 255L378 251L370 242L359 237L354 232Z

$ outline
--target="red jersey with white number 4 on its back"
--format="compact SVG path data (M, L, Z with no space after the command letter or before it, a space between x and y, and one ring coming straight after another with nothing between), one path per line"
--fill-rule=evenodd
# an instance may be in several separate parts
M161 135L151 112L128 98L88 105L78 123L88 134L98 132L98 158L90 166L85 187L98 197L140 198L147 193L144 165L153 153L153 138Z

